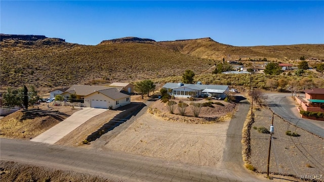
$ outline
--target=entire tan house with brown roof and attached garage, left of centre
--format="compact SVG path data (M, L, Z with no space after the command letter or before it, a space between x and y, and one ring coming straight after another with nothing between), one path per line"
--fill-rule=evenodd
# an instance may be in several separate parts
M115 109L131 103L131 97L123 93L123 87L72 85L61 96L69 100L71 94L85 107Z

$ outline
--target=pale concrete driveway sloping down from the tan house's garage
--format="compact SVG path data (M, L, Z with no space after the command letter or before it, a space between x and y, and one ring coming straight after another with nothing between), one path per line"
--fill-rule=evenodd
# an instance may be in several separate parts
M70 117L53 126L49 130L43 132L42 134L39 134L30 141L55 144L69 132L73 131L75 128L82 125L90 118L97 116L105 111L107 111L107 109L83 108L82 110L73 113Z

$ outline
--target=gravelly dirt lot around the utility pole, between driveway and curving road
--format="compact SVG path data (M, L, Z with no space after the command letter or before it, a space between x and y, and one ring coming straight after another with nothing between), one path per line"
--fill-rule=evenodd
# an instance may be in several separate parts
M252 125L270 129L272 112L261 109L255 112L256 119ZM274 115L274 134L270 154L270 172L280 174L323 175L324 174L324 140L308 131L300 129ZM298 137L286 135L291 130L300 134ZM251 162L259 172L267 171L269 134L251 130ZM321 181L324 177L321 178Z

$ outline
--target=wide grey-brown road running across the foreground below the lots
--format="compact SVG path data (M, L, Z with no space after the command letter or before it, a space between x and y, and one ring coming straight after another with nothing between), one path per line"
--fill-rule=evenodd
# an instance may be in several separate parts
M236 176L231 169L193 166L152 157L112 151L75 149L0 139L2 161L16 161L54 169L89 173L127 181L262 181Z

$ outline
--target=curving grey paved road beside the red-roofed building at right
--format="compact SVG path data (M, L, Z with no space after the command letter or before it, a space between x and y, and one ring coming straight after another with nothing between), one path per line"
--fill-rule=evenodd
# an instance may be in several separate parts
M275 114L300 128L324 138L324 121L301 118L296 108L296 103L290 99L291 94L278 93L267 95L268 106Z

